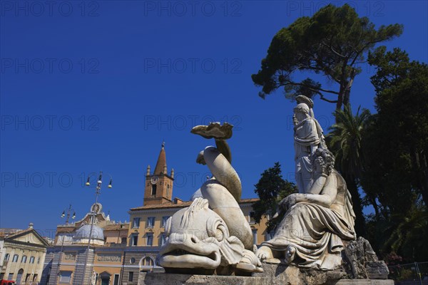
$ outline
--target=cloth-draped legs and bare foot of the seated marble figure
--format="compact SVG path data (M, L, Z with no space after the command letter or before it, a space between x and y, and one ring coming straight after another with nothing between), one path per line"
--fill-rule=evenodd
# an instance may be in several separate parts
M285 214L275 236L262 243L258 256L264 254L266 258L275 258L275 255L282 254L280 258L284 258L287 264L333 269L340 264L342 238L352 239L352 234L347 224L331 209L300 202Z

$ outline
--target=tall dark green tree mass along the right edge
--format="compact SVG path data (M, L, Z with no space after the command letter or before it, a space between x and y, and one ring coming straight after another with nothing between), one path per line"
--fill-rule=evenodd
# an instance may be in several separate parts
M426 261L428 230L428 66L410 61L399 48L384 46L368 56L376 68L377 114L362 134L360 183L374 207L370 241L381 254Z

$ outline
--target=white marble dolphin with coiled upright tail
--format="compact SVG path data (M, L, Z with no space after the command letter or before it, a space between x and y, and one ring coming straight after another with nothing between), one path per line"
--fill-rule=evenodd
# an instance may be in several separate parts
M263 271L255 256L253 233L238 204L242 187L225 141L232 128L228 123L211 123L192 130L215 138L216 147L205 147L196 160L206 164L213 177L200 187L202 198L195 198L190 207L168 219L165 244L158 255L158 264L167 272L239 275Z

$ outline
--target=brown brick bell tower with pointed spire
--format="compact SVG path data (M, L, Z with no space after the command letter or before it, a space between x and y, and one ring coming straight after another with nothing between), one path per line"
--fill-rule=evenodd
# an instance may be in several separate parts
M156 162L153 174L151 173L150 165L147 167L143 206L172 202L173 184L174 170L171 169L170 175L168 175L165 142L162 142L161 152L159 152L158 162Z

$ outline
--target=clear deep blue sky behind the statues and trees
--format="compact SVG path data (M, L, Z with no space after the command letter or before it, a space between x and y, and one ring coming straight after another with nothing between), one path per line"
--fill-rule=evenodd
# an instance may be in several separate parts
M235 125L243 197L255 197L260 173L277 161L293 180L295 103L281 91L260 99L250 75L280 28L327 1L50 3L0 1L0 227L34 222L49 235L68 204L83 217L94 200L83 183L100 170L114 184L102 190L104 210L128 220L163 140L173 196L188 199L208 172L196 156L214 143L190 129L213 120ZM376 26L404 24L386 45L427 62L427 1L348 3ZM374 69L362 67L352 106L374 110ZM314 110L327 130L334 105L317 99Z

